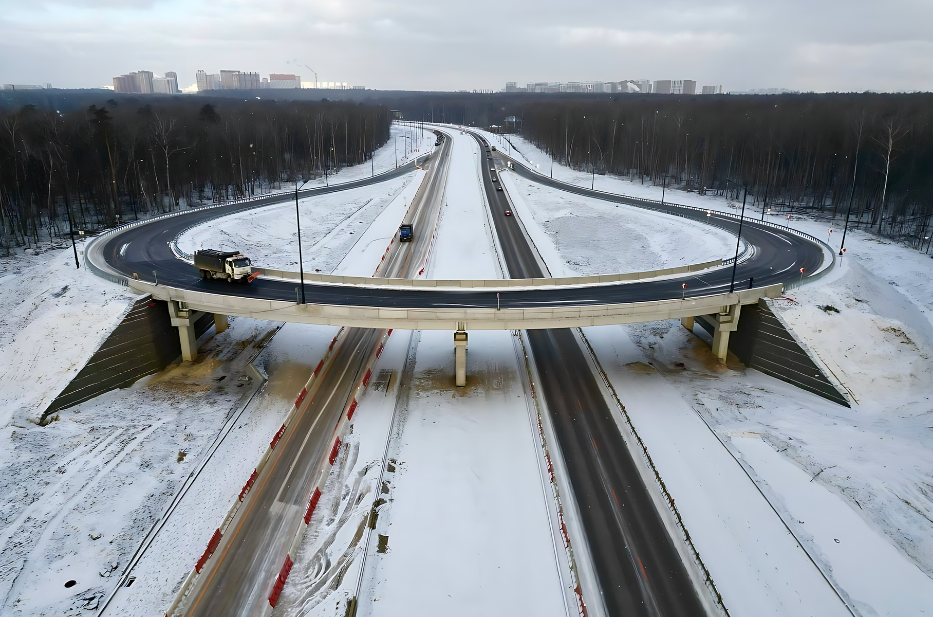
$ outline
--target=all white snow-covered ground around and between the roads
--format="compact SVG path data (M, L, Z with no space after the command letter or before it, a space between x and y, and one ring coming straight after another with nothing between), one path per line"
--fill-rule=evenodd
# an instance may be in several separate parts
M532 159L539 156L516 145ZM377 154L377 164L380 156L385 161ZM550 168L540 156L536 162ZM429 273L497 277L481 210L481 161L472 168L452 162L449 205ZM366 175L365 167L354 173ZM584 186L591 180L559 165L554 175ZM405 191L417 182L397 186L395 200L383 183L369 195L359 189L330 203L327 222L309 227L309 237L320 234L313 242L323 244L306 253L307 265L372 273L404 212ZM521 198L516 211L554 274L642 270L646 256L657 260L651 267L663 267L729 253L705 227L679 219L657 228L658 236L682 234L677 241L651 237L651 213L602 233L598 221L608 225L614 204L574 196L571 206L560 191L529 191L508 175L506 182L513 199ZM660 187L620 178L597 176L595 183L661 197ZM665 199L730 209L722 198L683 191L668 190ZM314 208L311 203L310 225L318 224ZM591 222L580 226L571 213ZM257 212L249 224L256 235L237 240L279 233L264 249L275 259L284 252L274 250L276 243L290 245L293 215L288 208L265 218ZM827 236L825 222L789 224ZM335 232L339 227L344 231ZM630 229L633 235L625 235ZM836 229L833 245L842 235ZM577 242L570 230L582 234ZM613 238L643 248L620 251ZM598 248L586 246L591 243ZM703 248L688 259L684 246ZM809 558L858 615L920 615L933 606L933 262L862 232L850 231L846 246L837 272L789 292L775 310L852 393L851 410L735 364L721 367L678 322L586 330L737 617L837 614L842 603ZM288 259L296 258L278 265ZM0 299L6 371L0 380L0 612L89 614L226 420L243 409L258 381L247 360L276 324L233 319L230 330L202 342L199 362L65 410L39 428L29 419L83 366L132 297L83 267L75 271L69 247L0 262ZM230 435L179 505L184 515L170 519L134 569L142 584L121 589L108 614L164 610L334 331L289 324L272 338L258 357L272 383L230 424ZM388 503L369 544L360 614L411 614L413 606L445 614L563 613L560 552L555 555L547 520L552 504L536 469L507 332L470 333L465 390L449 383L450 333L416 334L410 399L397 410L388 443L392 470L384 488L379 484L410 342L410 333L399 331L386 346L375 372L385 381L377 378L361 400L350 446L329 479L334 490L325 492L331 500L315 513L315 532L305 537L277 612L343 614L342 600L355 593L357 576L352 564L345 566L358 551L362 533L356 534L378 489L388 491L382 495ZM762 507L761 494L780 520ZM729 499L735 509L719 516ZM380 536L387 537L384 552ZM65 588L70 580L76 584ZM517 605L516 598L535 604Z

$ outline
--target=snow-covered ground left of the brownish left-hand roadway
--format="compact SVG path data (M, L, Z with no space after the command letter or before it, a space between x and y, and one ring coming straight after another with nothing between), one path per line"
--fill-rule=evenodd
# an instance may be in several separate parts
M433 133L427 139L433 146ZM421 149L424 153L424 142ZM384 171L378 165L383 161L385 167L386 156L394 157L391 147L387 155L384 147L377 152L377 173ZM370 172L366 167L339 175L363 177ZM411 185L413 194L420 174L392 181L393 195L401 196L397 204L389 204L382 183L355 189L357 201L349 206L332 202L342 214L315 217L317 204L311 203L302 219L311 222L308 232L336 240L327 250L315 246L314 259L332 259L327 268L343 259L341 268L354 272L359 264L344 257L369 229L351 215L362 205L360 214L369 217L365 222L387 216L383 227L397 228L405 190ZM368 210L368 203L380 205ZM335 232L338 227L346 232ZM378 250L358 247L367 254L369 274L387 244L387 238L376 240L369 238ZM266 244L270 254L273 245ZM158 613L171 602L336 329L288 324L284 335L272 338L256 361L267 367L271 382L245 410L258 386L258 373L247 360L279 324L231 318L230 330L220 335L212 330L202 340L195 364L170 367L131 388L64 410L59 421L40 428L31 421L119 323L133 296L87 273L83 261L76 270L70 246L33 252L0 261L0 613L94 610L231 419L224 429L229 434L133 569L142 584L121 588L108 609L120 615ZM76 584L64 587L71 580Z

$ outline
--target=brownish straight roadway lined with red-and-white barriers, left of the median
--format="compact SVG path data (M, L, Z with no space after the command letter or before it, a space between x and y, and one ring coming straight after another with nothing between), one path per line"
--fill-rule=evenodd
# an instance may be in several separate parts
M378 274L407 277L422 268L440 214L449 151L450 142L445 140L425 162L428 175L412 199L410 211L414 239L393 243ZM347 329L341 335L298 414L244 498L215 556L174 614L254 617L269 609L272 584L299 526L304 524L302 518L322 461L333 444L334 428L382 336L383 330L365 328Z

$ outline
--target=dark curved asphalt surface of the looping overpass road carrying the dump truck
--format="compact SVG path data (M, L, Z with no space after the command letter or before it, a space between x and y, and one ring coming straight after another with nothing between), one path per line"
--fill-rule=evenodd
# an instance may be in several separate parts
M484 160L484 162L491 163L493 161ZM560 189L570 190L578 194L590 195L618 203L641 202L641 200L634 198L556 183L544 176L524 170L521 165L516 165L516 168L519 174L525 175L536 182L550 183ZM484 169L488 172L489 165L484 166ZM301 191L301 195L322 194L365 186L396 177L408 171L411 171L411 167L408 169L399 168L386 174L377 175L374 178L366 178L329 188ZM278 196L261 203L281 203L288 199L287 196ZM294 197L291 199L294 199ZM254 207L256 207L256 203L233 204L224 208L210 210L192 209L181 216L163 218L145 225L118 231L104 238L104 259L111 268L118 272L127 276L137 273L139 278L144 281L154 282L156 276L153 275L153 271L155 271L158 273L159 283L171 287L213 291L231 296L253 296L268 300L295 301L295 283L293 281L259 277L249 285L240 285L229 284L220 280L204 280L199 276L194 266L176 259L169 247L169 243L174 237L190 225L214 218L218 214L227 215ZM657 205L654 207L660 208ZM716 213L713 213L711 217L707 217L703 211L679 209L670 204L667 204L664 209L733 233L738 229L738 221L732 217L724 217ZM509 233L508 230L504 232ZM742 235L750 245L754 246L755 250L750 259L739 264L735 277L736 288L748 287L748 280L751 277L754 277L756 287L765 287L774 283L787 283L800 276L801 267L805 268L807 273L814 273L822 263L823 254L820 247L790 231L760 225L746 218ZM240 248L248 257L249 247L241 246ZM521 258L516 257L515 259ZM261 266L262 264L258 265ZM531 264L522 265L530 266ZM731 268L724 268L685 274L660 281L642 281L598 287L463 291L374 289L306 283L305 289L309 302L335 305L397 308L494 308L498 296L502 308L541 308L677 299L684 293L681 288L683 283L687 284L687 297L705 296L728 291L730 281Z

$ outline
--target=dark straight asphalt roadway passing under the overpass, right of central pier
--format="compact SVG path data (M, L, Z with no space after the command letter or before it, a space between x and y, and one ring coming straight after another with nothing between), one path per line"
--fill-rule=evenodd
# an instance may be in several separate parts
M491 167L483 166L483 181L509 275L546 275L517 217L505 216L511 205L495 190ZM675 548L681 540L667 533L573 330L527 335L607 614L705 614Z

